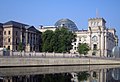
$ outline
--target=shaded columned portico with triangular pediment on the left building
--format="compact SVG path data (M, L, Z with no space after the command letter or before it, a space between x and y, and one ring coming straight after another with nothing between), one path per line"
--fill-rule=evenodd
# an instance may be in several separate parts
M41 32L34 26L26 27L26 47L25 51L40 51L41 47Z

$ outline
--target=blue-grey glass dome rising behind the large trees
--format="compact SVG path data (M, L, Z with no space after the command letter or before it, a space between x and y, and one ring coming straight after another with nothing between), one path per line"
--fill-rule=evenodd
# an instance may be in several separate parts
M56 27L67 27L70 31L77 31L78 28L73 21L70 19L60 19L55 23Z

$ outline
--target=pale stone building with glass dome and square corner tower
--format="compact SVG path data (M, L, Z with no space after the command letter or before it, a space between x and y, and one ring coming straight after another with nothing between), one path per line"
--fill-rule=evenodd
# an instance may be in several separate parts
M45 30L55 30L56 28L68 28L76 34L76 41L72 43L71 53L78 53L78 46L86 43L90 47L88 56L110 57L114 46L118 45L118 36L114 28L108 29L103 18L91 18L88 20L87 30L78 30L75 23L69 19L61 19L55 23L55 27L44 28ZM44 27L44 26L43 26ZM39 29L43 32L43 29Z

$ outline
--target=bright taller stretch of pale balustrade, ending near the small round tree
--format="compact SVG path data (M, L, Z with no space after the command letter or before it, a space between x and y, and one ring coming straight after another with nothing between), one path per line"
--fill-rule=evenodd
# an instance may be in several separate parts
M9 55L8 55L9 54ZM0 52L0 56L9 56L9 57L42 57L42 58L73 58L80 57L79 54L72 53L47 53L47 52L15 52L9 51L9 53Z

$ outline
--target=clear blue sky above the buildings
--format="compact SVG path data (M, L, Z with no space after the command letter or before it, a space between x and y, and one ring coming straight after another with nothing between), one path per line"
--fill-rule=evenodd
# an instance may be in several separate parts
M87 29L88 18L95 18L96 10L120 39L120 0L0 0L0 22L14 20L38 27L69 18L79 29Z

